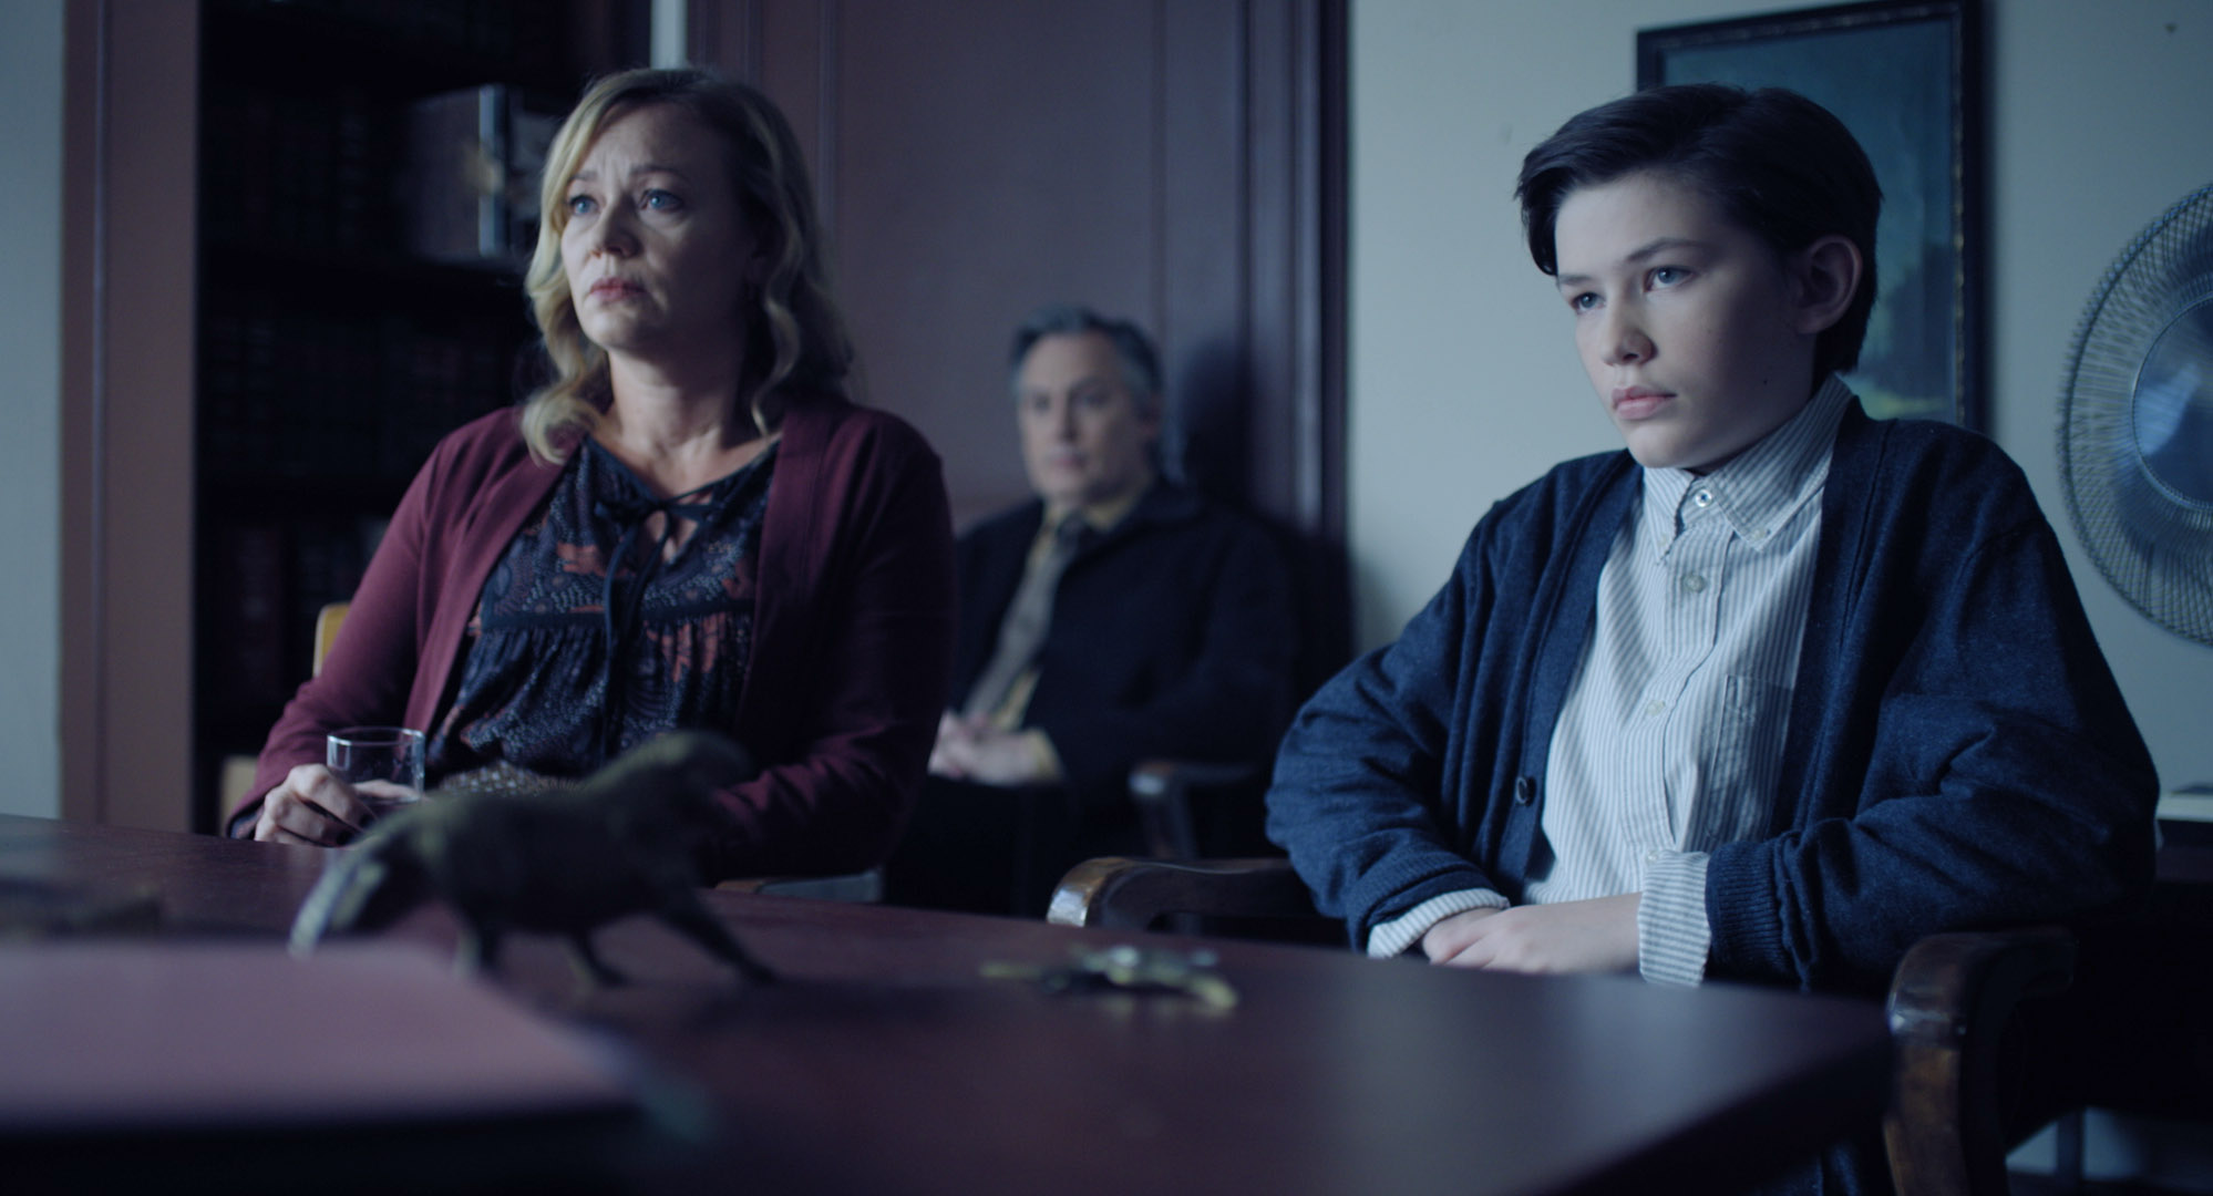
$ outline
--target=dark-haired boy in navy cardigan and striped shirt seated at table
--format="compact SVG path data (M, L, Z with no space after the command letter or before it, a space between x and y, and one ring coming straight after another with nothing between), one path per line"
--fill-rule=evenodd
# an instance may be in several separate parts
M1788 91L1523 161L1627 442L1494 506L1284 741L1268 831L1370 955L1879 993L1930 933L2151 882L2155 778L2018 466L1835 378L1881 192Z

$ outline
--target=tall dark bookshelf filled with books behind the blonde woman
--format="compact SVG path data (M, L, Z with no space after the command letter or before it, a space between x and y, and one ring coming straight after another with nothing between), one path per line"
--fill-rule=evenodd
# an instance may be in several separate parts
M259 752L438 438L536 363L513 256L409 250L409 113L562 111L644 60L644 0L204 0L195 279L193 825Z

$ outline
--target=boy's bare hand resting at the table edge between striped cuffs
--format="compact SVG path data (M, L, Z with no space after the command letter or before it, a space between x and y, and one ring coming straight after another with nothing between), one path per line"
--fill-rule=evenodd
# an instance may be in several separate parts
M1432 964L1507 973L1627 973L1642 893L1454 913L1421 937Z

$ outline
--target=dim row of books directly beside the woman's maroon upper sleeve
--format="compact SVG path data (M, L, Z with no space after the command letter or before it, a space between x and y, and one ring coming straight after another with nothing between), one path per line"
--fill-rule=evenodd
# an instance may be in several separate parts
M224 707L272 707L308 679L314 615L361 586L383 515L248 520L210 533L208 568L224 601L212 606L221 668L208 699Z

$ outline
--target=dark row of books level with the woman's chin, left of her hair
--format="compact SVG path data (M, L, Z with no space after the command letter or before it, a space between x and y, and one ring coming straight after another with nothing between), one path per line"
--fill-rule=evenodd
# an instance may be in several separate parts
M199 462L217 478L405 482L440 436L513 398L509 340L210 296Z

